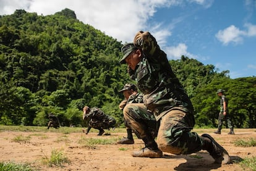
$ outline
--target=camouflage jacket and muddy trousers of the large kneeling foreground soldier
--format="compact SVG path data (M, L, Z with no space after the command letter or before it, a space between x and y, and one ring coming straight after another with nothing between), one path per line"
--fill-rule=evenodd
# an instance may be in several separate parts
M130 127L140 138L146 138L148 124L153 120L146 114L149 109L160 122L157 143L161 151L173 154L200 151L202 138L197 133L190 132L195 124L192 103L174 75L166 54L148 32L138 33L134 44L136 48L142 49L144 56L135 70L129 70L129 74L131 78L135 78L139 90L145 94L145 105L128 104L124 108L124 117ZM124 64L124 57L121 64Z

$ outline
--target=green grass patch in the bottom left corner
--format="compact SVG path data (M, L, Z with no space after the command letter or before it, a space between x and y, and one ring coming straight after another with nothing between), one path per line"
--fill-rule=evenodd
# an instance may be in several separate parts
M33 171L35 170L29 164L18 164L15 162L0 162L0 170L1 171Z

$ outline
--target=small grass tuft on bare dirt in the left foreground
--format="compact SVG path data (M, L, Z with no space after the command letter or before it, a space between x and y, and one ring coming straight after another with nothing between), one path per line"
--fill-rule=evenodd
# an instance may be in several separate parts
M69 163L69 159L67 159L67 157L63 154L61 149L53 149L51 151L51 156L47 157L45 155L45 157L43 157L42 162L43 164L48 165L48 167L62 167L62 164Z

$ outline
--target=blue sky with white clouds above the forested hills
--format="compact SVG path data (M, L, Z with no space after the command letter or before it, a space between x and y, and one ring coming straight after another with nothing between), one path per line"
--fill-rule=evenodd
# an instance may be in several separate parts
M255 0L0 0L0 15L64 8L123 43L150 31L168 59L184 55L231 78L256 76Z

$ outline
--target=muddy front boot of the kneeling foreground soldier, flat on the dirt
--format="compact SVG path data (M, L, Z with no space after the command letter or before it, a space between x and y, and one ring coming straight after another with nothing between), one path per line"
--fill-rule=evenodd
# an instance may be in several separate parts
M145 143L145 148L140 149L140 151L134 151L132 156L150 158L163 157L163 152L160 149L158 149L158 146L151 135L148 135L146 138L142 138L142 140Z

